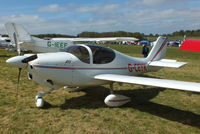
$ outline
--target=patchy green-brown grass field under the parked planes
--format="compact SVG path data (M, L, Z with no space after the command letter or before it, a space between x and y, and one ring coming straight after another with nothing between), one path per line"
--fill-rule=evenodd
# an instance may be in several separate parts
M118 51L141 57L140 46L110 45ZM132 98L120 108L109 108L104 98L109 86L69 93L64 89L44 96L43 109L35 107L35 95L46 87L28 80L22 71L16 98L18 69L5 63L16 55L0 49L0 133L7 134L199 134L200 94L140 85L114 85L116 93ZM200 53L168 47L167 59L186 61L180 69L165 68L146 76L200 82ZM169 83L170 84L170 83Z

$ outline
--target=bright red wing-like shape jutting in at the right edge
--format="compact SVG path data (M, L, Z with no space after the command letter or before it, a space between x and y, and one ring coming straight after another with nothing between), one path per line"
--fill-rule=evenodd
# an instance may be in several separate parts
M188 51L200 51L200 40L187 39L183 42L180 49Z

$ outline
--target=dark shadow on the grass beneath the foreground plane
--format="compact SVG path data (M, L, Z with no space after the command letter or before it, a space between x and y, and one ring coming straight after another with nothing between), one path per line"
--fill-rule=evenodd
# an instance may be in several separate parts
M95 89L95 90L94 90ZM148 88L136 90L116 90L116 94L123 94L131 97L132 101L120 108L133 108L142 112L150 113L167 120L179 122L192 127L200 128L200 115L190 111L179 110L170 106L157 104L150 100L156 97L164 88ZM64 104L53 106L49 103L45 104L44 109L59 107L65 109L96 109L106 108L104 98L109 94L109 89L99 86L87 88L84 90L86 94L81 97L66 99ZM98 92L98 93L97 93Z

